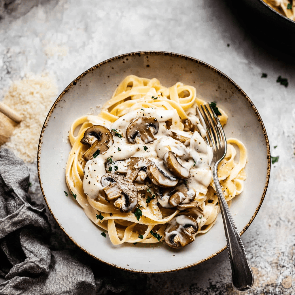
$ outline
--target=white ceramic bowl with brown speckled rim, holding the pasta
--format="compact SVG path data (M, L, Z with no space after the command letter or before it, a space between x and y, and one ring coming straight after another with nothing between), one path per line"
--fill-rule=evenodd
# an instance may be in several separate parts
M71 145L68 131L74 119L109 100L122 79L130 74L158 78L164 86L178 81L196 87L197 96L217 104L228 114L224 129L247 147L245 189L231 207L242 234L256 216L266 193L270 149L263 122L248 96L226 75L194 58L168 52L137 52L106 60L76 78L58 97L47 115L38 149L40 186L54 219L70 239L89 255L118 268L145 273L175 271L208 260L224 249L222 217L195 242L183 249L163 243L114 246L101 236L71 196L65 183L65 166Z

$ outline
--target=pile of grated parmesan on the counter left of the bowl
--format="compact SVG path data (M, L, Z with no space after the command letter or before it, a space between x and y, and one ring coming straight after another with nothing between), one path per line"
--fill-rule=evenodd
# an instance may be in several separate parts
M14 82L3 103L22 115L10 140L1 148L10 148L24 162L37 162L37 150L42 126L57 95L55 79L48 76L27 75Z

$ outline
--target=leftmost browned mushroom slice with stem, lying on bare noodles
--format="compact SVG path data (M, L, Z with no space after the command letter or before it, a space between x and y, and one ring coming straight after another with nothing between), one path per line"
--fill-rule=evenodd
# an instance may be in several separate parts
M100 153L104 153L108 150L110 145L114 143L114 139L109 129L101 125L93 125L86 129L81 143L83 143L83 145L91 145L82 155L83 159L88 161L93 158L93 154L97 150L99 150Z

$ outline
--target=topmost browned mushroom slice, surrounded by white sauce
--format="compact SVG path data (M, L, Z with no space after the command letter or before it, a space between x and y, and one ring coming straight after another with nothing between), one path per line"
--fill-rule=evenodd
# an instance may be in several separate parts
M159 130L159 122L153 117L141 117L131 122L126 130L127 140L135 144L136 137L140 137L144 143L155 140L154 134Z

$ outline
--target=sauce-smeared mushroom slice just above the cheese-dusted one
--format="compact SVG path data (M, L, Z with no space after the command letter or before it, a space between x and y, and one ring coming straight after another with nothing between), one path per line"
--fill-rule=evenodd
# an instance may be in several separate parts
M150 165L151 160L148 158L141 158L141 157L131 157L126 160L117 160L112 162L112 164L106 163L106 171L109 171L109 168L112 167L112 170L114 170L114 167L117 166L117 173L124 174L127 178L129 178L131 181L134 181L137 178L137 175L140 171L146 171L147 166ZM144 174L141 174L141 178ZM145 173L145 176L146 173ZM143 179L144 180L144 179Z

